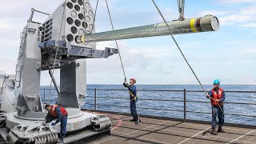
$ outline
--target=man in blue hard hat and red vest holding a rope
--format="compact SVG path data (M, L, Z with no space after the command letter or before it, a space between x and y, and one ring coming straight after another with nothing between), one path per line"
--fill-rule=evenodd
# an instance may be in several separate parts
M224 125L224 110L223 110L223 102L225 100L225 93L222 88L219 87L220 82L218 79L214 80L214 88L208 92L206 98L210 98L210 102L212 105L212 131L211 134L216 135L217 132L215 130L217 125L216 117L218 115L218 132L224 132L222 130L222 126Z

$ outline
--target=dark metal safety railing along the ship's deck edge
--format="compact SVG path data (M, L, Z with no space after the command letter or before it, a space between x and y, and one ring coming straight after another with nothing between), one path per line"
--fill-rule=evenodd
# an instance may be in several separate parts
M46 102L46 89L43 89L43 102ZM86 105L91 105L94 106L94 110L97 110L97 106L111 106L111 107L129 107L129 106L115 106L115 105L107 105L107 104L98 104L97 103L97 98L109 98L106 96L98 96L97 92L98 91L127 91L127 90L110 90L110 89L87 89L87 90L93 90L94 91L94 96L86 96L89 98L94 98L94 104L91 103L86 103ZM187 92L191 93L198 93L198 92L203 92L202 90L138 90L138 91L149 91L149 92L182 92L183 93L183 100L177 100L177 99L155 99L155 98L139 98L140 101L157 101L157 102L183 102L183 110L170 110L170 109L157 109L157 108L152 108L152 107L140 107L137 106L139 109L145 109L145 110L163 110L163 111L177 111L183 113L183 121L186 122L186 114L187 113L194 113L194 114L211 114L210 112L203 112L203 111L194 111L194 110L186 110L186 104L187 102L195 102L195 103L206 103L210 101L194 101L194 100L187 100L186 99L186 94ZM226 93L243 93L243 94L256 94L256 91L225 91ZM120 97L110 97L113 99L129 99L129 98L120 98ZM250 103L250 102L224 102L225 104L228 105L247 105L247 106L256 106L256 103ZM251 115L251 114L228 114L225 113L226 115L233 115L233 116L244 116L244 117L251 117L251 118L256 118L256 115Z

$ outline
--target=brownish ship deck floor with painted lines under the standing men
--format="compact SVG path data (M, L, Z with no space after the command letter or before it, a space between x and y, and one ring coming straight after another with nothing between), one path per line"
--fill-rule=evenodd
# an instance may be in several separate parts
M141 118L142 123L135 125L126 115L106 115L113 123L111 135L99 134L75 143L256 144L256 130L253 129L224 126L226 133L212 135L206 133L211 127L204 124Z

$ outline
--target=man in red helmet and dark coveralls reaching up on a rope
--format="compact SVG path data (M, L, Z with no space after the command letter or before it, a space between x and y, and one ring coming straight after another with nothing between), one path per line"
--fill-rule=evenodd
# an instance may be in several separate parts
M137 113L136 109L136 102L138 101L137 97L137 90L136 86L134 85L136 83L135 78L130 78L130 85L126 82L123 83L123 86L128 87L129 94L130 94L130 114L133 117L133 119L130 120L130 122L135 122L135 124L138 124L138 122L142 122Z

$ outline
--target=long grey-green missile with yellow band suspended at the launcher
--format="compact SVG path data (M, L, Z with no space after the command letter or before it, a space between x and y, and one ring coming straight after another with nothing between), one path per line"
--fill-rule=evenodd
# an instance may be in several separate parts
M131 27L121 30L111 30L101 33L85 34L76 38L79 42L103 42L130 38L156 37L170 34L190 34L206 31L217 31L219 27L218 18L206 15L201 18L187 18L183 21L157 23L147 26Z

